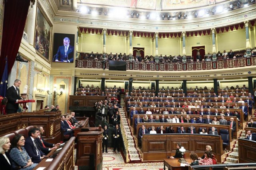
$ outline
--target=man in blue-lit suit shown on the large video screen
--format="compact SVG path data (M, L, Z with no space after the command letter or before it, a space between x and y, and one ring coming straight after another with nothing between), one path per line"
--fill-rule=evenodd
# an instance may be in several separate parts
M64 45L59 47L58 52L55 55L54 61L73 63L74 47L70 45L70 39L68 37L65 37L63 39L63 44Z

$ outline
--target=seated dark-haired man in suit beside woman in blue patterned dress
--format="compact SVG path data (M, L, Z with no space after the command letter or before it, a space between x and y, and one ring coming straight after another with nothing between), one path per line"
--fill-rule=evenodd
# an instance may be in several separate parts
M30 129L24 145L24 148L34 163L39 163L42 158L44 158L44 152L42 152L42 150L36 145L36 139L38 138L39 133L39 130L36 128Z

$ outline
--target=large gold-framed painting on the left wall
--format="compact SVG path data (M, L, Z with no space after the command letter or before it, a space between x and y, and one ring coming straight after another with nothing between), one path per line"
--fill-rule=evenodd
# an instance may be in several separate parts
M36 9L34 48L36 49L36 53L48 61L48 63L50 63L51 41L52 24L38 3Z

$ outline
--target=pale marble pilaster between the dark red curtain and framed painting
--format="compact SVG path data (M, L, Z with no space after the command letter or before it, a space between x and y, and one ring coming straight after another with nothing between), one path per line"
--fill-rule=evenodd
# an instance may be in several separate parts
M36 6L33 6L32 8L28 9L28 16L25 25L25 32L28 35L28 43L32 46L34 46L35 39L36 8Z

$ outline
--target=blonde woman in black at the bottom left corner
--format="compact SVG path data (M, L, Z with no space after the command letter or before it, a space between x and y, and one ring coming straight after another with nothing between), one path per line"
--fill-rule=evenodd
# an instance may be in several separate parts
M10 146L8 137L0 137L0 167L3 170L12 170L12 159L8 153Z

